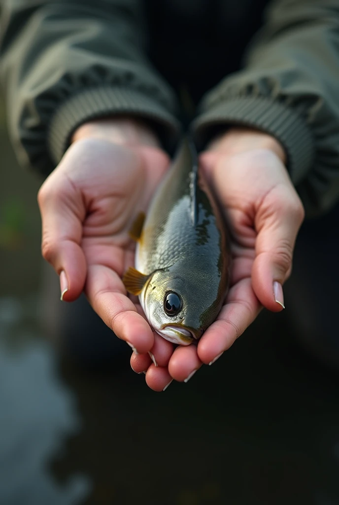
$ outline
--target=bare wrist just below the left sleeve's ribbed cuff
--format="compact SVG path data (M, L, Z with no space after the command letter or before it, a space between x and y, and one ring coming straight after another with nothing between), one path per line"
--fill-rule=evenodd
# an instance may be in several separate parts
M84 138L100 138L119 145L148 145L161 148L153 130L142 120L128 117L102 118L79 126L72 143Z

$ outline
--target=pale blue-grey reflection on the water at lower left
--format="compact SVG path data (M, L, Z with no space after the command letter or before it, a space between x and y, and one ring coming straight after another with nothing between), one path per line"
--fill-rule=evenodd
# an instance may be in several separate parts
M79 431L76 398L58 377L50 346L26 329L25 309L0 298L0 503L74 505L89 480L74 474L61 486L48 466Z

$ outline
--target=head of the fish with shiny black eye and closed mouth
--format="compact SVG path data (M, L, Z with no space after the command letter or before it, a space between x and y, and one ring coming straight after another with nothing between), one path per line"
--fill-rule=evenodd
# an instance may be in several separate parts
M180 345L197 341L216 316L215 311L209 311L213 304L206 296L205 286L194 282L188 274L155 272L144 291L142 303L154 330Z

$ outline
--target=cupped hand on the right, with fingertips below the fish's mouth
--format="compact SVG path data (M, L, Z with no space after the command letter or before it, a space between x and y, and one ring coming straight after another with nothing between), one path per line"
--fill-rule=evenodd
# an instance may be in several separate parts
M134 371L162 391L172 379L187 382L202 364L212 364L254 321L262 307L283 310L283 284L291 274L293 249L304 219L299 196L284 165L281 145L267 134L231 129L200 157L202 170L229 221L233 237L231 288L216 321L198 345L174 352L159 335L152 353L132 354Z

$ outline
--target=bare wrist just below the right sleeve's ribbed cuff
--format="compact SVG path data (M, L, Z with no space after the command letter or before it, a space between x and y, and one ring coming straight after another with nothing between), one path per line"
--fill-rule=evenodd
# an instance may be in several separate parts
M215 137L208 151L233 156L254 149L266 149L274 153L284 164L287 156L283 145L268 133L252 128L234 127Z

